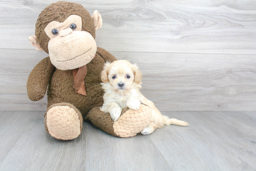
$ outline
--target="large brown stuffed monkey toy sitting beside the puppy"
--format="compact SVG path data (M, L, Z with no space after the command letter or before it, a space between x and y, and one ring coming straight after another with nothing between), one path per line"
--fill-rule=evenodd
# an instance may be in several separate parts
M130 137L148 126L152 112L141 104L138 110L123 109L117 121L100 110L103 104L100 73L106 61L116 58L97 47L95 31L102 26L97 10L92 15L80 4L59 1L47 6L36 22L29 41L49 57L40 61L27 80L30 100L47 91L46 131L56 139L72 140L82 131L82 121L91 121L103 131Z

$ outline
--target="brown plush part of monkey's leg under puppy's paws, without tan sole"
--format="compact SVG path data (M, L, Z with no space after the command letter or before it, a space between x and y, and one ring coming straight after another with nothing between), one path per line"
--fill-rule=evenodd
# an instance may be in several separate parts
M126 107L122 110L121 115L123 115L129 108ZM96 127L100 128L101 130L114 135L118 136L114 132L114 121L112 120L109 113L105 113L100 110L100 107L94 107L86 116L86 120L91 121Z

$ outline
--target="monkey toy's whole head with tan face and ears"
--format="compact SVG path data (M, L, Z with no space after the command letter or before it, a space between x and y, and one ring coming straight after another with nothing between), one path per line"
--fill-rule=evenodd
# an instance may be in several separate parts
M30 43L49 54L52 64L61 70L88 64L97 51L95 31L102 26L97 10L91 16L80 4L59 1L47 6L36 22L36 36Z

